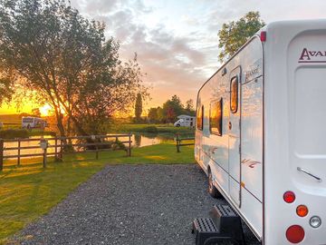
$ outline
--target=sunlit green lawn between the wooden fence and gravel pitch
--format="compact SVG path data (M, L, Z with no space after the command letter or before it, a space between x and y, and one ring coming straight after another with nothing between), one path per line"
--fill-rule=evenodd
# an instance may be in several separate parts
M195 162L192 146L182 147L177 153L174 142L135 148L131 157L123 151L100 152L98 161L94 157L94 153L83 153L67 155L63 162L50 159L45 170L37 159L23 160L20 167L15 167L14 162L5 162L5 169L0 173L0 244L50 211L106 164Z

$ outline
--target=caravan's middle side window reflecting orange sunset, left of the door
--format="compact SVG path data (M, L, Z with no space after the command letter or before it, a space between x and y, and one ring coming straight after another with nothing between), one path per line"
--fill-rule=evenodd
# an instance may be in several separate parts
M223 99L210 104L209 129L211 133L222 136Z

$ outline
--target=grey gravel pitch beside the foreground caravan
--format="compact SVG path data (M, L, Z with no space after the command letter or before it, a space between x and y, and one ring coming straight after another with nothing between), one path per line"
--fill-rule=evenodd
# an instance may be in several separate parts
M109 165L28 225L22 244L195 244L191 223L222 200L196 164ZM247 244L259 244L245 227Z

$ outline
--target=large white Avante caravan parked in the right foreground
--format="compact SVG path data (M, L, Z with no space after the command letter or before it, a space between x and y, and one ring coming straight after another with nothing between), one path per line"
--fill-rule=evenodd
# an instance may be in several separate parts
M326 20L266 25L200 88L195 157L267 245L326 244Z

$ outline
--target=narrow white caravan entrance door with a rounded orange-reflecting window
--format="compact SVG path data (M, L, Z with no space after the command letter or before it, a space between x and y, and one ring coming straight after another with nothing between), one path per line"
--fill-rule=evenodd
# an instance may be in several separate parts
M240 101L241 101L241 67L236 67L229 76L230 116L229 135L229 190L230 197L240 206Z

